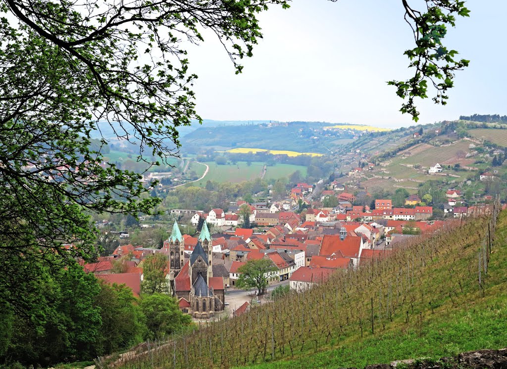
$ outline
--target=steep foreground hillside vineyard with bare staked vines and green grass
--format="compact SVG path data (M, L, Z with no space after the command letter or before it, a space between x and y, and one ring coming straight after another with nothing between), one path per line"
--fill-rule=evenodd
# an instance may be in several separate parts
M503 347L506 229L507 214L498 217L495 206L492 216L447 223L389 257L149 350L145 345L118 365L359 367Z

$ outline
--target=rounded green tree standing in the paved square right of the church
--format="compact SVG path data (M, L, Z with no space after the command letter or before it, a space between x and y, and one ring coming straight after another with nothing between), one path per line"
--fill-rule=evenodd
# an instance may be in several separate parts
M240 289L257 289L261 295L268 286L269 276L276 271L276 267L269 259L251 260L238 268L239 277L236 282Z

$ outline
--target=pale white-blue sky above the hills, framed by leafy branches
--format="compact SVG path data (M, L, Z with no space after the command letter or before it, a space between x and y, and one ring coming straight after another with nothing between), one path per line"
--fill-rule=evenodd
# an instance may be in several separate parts
M412 4L420 4L412 0ZM418 101L418 124L460 115L507 114L507 1L469 0L445 45L470 65L456 72L446 106ZM401 0L294 0L259 15L264 38L234 66L216 36L189 46L197 111L205 119L328 121L397 128L415 125L399 109L391 79L410 78L414 47ZM431 93L431 92L430 92ZM432 96L430 96L432 97Z

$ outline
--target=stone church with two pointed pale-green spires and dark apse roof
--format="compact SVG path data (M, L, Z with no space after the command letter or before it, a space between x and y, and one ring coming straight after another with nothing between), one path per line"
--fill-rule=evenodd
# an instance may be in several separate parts
M190 260L185 261L185 239L176 222L163 249L168 251L171 292L180 308L196 319L211 318L215 312L223 311L224 278L213 277L212 240L206 222Z

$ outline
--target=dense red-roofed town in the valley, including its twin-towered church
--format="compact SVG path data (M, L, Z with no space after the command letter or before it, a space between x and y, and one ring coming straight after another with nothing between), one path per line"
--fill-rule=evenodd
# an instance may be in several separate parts
M230 305L227 291L235 289L239 269L249 261L268 260L274 267L265 276L269 284L288 284L300 292L327 280L337 270L345 272L383 258L408 239L438 232L445 222L459 224L461 218L489 209L488 205L456 206L462 193L449 189L444 208L447 220L430 220L433 208L420 206L417 194L406 198L405 208L393 207L392 199L375 199L371 209L353 206L354 194L337 181L325 185L318 198L314 198L316 186L298 183L285 199L238 200L231 202L227 211L173 209L176 219L190 219L200 228L199 234L182 234L175 222L161 249L121 245L111 256L85 265L85 270L109 283L125 283L139 295L143 259L161 253L167 257L167 293L177 298L183 312L195 319L213 318L226 310L239 315L250 308L254 298L244 295L244 301L235 301L233 309L226 309ZM338 205L323 207L328 196L336 197ZM302 206L305 211L298 212ZM244 222L253 227L243 227ZM128 232L121 236L128 240ZM114 261L125 256L129 258L126 270L115 273Z

